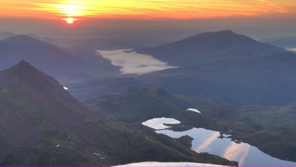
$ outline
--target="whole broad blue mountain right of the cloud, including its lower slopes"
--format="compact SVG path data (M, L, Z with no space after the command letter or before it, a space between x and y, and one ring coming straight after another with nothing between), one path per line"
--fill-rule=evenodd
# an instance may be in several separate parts
M134 51L179 65L137 77L171 93L203 94L238 106L295 101L296 52L229 30Z

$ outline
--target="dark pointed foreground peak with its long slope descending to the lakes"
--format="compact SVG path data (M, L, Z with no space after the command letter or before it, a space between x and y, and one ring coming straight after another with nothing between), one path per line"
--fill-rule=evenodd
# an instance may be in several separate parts
M0 71L1 166L109 166L141 161L233 162L139 124L107 119L21 61ZM234 163L235 164L235 163Z

